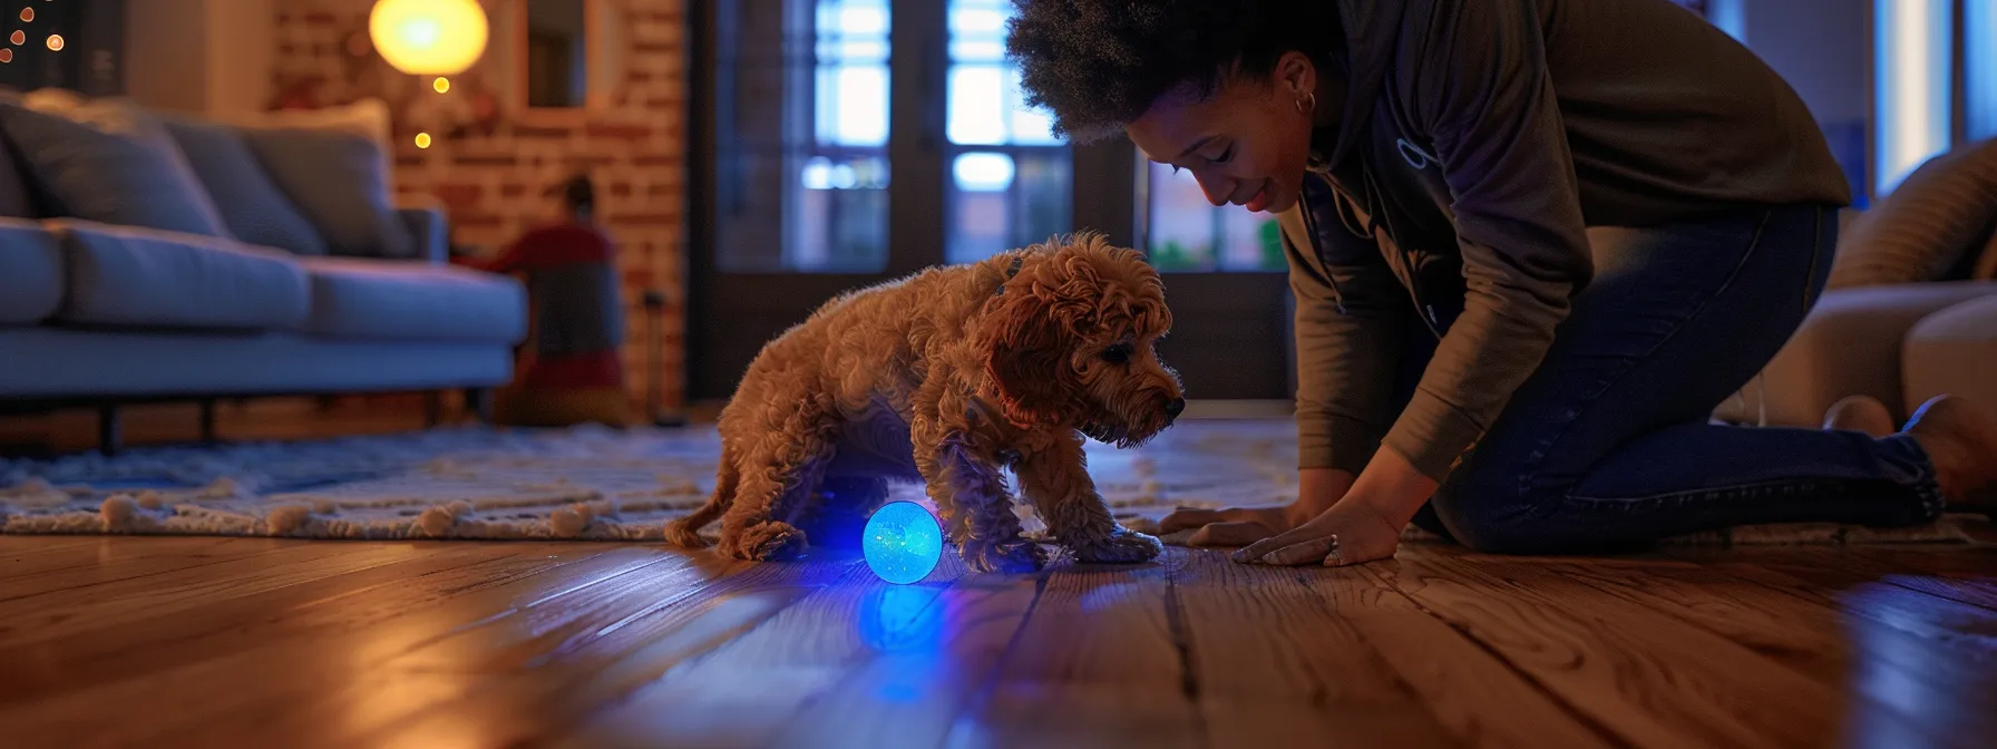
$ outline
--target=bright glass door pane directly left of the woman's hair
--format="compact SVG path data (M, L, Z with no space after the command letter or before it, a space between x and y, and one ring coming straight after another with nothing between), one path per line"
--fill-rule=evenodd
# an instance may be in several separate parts
M1004 60L1010 0L951 0L951 142L945 260L977 262L1072 230L1072 170L1052 120L1026 108L1018 68Z

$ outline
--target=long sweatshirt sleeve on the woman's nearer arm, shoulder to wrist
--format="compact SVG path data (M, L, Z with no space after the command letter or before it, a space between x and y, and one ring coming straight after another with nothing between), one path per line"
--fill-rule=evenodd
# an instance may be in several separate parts
M1580 190L1522 0L1436 0L1414 80L1450 186L1468 296L1386 445L1444 479L1546 358L1594 272Z

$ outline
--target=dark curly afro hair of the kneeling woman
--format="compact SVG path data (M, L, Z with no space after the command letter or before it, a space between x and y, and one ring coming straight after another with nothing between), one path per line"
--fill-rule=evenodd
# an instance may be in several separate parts
M1330 0L1014 0L1006 56L1054 134L1096 140L1182 84L1210 96L1264 76L1286 52L1340 46Z

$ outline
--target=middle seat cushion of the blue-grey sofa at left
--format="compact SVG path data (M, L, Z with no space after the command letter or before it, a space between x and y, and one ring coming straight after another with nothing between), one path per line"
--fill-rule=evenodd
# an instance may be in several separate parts
M58 320L222 330L298 330L306 322L306 270L280 250L74 220L48 226L62 238L68 274Z

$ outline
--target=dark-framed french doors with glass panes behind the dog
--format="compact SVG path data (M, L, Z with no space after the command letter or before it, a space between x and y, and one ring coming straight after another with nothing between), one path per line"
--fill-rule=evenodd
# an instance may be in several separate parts
M1124 142L1068 144L1004 60L1010 0L701 0L687 393L727 397L825 300L1096 230L1148 250L1188 397L1288 399L1274 220L1216 210Z

